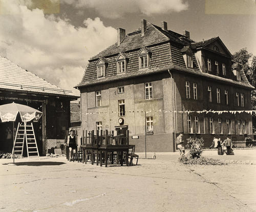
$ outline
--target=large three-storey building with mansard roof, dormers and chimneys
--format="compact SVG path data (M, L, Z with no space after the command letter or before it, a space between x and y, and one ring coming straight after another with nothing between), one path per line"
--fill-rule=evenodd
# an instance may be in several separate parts
M252 134L251 110L243 70L219 37L195 42L141 20L117 42L89 60L82 81L81 125L84 130L130 130L136 151L175 151L175 138L213 137L244 140ZM190 112L193 111L193 112ZM195 112L196 111L196 112ZM218 111L212 113L209 111Z

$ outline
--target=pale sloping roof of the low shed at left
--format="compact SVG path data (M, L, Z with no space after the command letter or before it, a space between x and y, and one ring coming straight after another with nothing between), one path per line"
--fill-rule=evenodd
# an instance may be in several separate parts
M7 58L0 56L0 90L31 92L77 99L72 91L61 89L39 76L19 67Z

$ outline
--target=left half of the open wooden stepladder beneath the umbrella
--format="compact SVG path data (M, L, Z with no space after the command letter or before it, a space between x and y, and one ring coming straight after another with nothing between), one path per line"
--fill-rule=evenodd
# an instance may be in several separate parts
M24 141L25 141L25 125L18 123L15 140L12 148L11 158L13 158L14 155L18 155L20 156L20 158L22 158Z

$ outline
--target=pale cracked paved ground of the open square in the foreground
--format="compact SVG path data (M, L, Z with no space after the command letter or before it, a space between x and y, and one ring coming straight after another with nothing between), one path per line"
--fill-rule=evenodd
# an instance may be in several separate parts
M255 153L217 157L256 161ZM0 160L0 210L256 211L256 165L185 166L177 162L178 152L157 153L156 160L143 154L138 166L107 168L65 157Z

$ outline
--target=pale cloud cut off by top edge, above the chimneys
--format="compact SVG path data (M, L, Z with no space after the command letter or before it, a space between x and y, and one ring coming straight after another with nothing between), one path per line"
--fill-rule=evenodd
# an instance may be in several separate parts
M62 0L77 8L93 8L106 18L119 18L126 13L142 13L144 15L167 14L188 9L183 0Z

